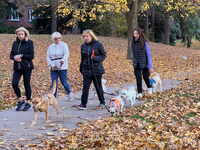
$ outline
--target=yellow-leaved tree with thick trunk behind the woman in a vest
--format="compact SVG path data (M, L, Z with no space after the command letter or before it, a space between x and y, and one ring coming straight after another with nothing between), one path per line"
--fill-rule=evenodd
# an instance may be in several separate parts
M128 26L127 59L132 59L133 54L130 44L133 38L133 30L138 25L138 13L147 0L60 0L57 13L63 16L71 14L73 19L68 22L69 26L75 24L74 18L85 21L89 16L91 20L96 19L96 13L106 11L122 12ZM101 16L100 16L101 17Z

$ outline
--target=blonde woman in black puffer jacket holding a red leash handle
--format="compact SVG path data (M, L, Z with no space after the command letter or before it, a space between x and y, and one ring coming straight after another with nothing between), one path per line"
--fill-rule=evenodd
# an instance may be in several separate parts
M105 99L101 84L102 75L105 73L102 62L106 58L106 52L102 44L91 30L83 31L85 43L81 45L80 72L83 75L83 90L81 104L76 108L86 109L90 84L93 81L100 101L99 107L105 106ZM92 55L93 54L93 55Z

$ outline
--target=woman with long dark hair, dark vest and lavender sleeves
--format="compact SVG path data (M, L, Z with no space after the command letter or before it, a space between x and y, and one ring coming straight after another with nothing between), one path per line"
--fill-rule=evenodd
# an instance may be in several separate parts
M151 95L152 88L150 86L150 72L153 72L151 53L147 39L140 27L134 29L133 41L131 44L133 51L133 67L137 82L138 95L137 98L142 97L142 75L148 87L148 93Z

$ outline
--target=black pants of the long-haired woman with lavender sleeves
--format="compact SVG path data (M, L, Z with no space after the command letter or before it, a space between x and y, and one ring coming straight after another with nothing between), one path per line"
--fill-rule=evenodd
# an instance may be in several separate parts
M136 77L138 93L142 93L142 74L143 74L143 79L144 79L147 87L148 88L151 87L150 86L150 79L149 79L150 72L149 72L148 67L140 69L139 64L137 64L137 67L134 68L134 74L135 74L135 77Z

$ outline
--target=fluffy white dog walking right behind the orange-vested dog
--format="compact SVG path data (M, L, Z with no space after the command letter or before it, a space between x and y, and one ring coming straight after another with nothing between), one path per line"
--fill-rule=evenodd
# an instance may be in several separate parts
M125 101L131 102L131 107L133 106L133 104L135 104L135 99L136 99L135 87L131 87L128 90L123 89L119 94L121 98L123 98Z

